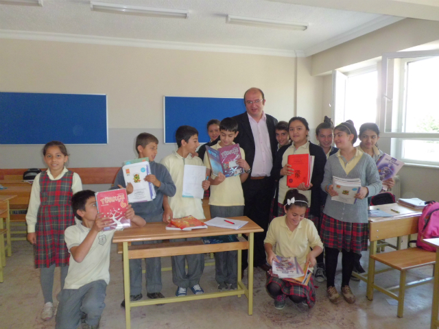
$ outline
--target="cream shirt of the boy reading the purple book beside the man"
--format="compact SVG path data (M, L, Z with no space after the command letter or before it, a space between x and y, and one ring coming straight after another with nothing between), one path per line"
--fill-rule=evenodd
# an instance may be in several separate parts
M233 143L235 144L235 143ZM219 142L213 146L213 149L220 149ZM246 160L244 149L239 147L241 151L241 158ZM209 156L204 157L204 165L207 169L211 169L211 162ZM211 175L212 179L216 176ZM209 197L209 204L211 206L244 206L244 192L242 191L241 179L239 175L226 177L226 179L219 185L211 185L211 195Z

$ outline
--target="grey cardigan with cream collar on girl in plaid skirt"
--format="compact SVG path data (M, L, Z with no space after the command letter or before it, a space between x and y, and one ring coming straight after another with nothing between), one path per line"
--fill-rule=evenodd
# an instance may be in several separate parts
M333 183L333 177L340 178L359 178L361 186L368 188L368 197L377 195L382 188L377 164L364 152L356 150L355 156L348 162L341 156L340 150L337 154L329 157L324 166L324 178L320 185L326 193L326 187ZM331 195L327 194L327 201L324 205L323 213L339 221L348 223L368 223L368 198L357 199L355 204L344 204L343 202L333 201Z

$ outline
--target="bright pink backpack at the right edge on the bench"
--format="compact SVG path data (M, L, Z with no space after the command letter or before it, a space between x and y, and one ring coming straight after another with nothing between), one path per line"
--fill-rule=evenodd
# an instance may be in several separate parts
M431 202L423 209L418 221L418 240L416 247L436 252L435 247L423 243L423 239L439 238L439 202Z

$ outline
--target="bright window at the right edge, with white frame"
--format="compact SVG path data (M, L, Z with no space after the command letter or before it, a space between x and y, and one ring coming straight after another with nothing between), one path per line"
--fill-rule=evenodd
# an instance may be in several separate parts
M384 53L379 111L392 156L439 166L439 51Z

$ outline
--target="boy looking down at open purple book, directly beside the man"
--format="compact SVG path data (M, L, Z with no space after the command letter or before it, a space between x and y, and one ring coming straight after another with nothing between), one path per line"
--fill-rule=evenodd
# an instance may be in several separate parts
M233 140L238 134L238 123L233 118L225 118L219 123L219 142L212 146L213 149L221 149L234 145ZM211 175L209 156L204 157L204 165L207 174L211 176L211 196L209 205L211 217L238 217L244 216L244 193L241 183L245 182L250 173L250 166L246 162L244 149L239 147L241 159L237 160L239 167L244 169L241 175L226 178L223 173L217 176ZM215 252L215 280L218 290L237 289L237 250L228 252Z

